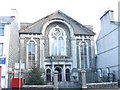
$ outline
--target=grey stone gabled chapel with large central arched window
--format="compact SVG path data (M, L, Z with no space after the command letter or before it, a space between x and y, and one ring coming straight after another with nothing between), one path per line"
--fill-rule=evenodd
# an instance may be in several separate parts
M91 26L59 10L34 23L21 23L21 63L26 71L35 66L42 68L48 83L53 81L55 70L61 85L80 81L84 66L86 70L95 69L94 35ZM87 76L88 82L92 82L92 75Z

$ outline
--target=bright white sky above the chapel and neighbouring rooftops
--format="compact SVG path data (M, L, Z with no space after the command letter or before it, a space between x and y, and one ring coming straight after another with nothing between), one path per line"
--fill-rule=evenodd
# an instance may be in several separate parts
M57 10L62 11L83 25L93 25L97 38L100 17L107 10L114 10L117 20L119 0L0 0L0 16L10 15L17 9L20 22L35 22Z

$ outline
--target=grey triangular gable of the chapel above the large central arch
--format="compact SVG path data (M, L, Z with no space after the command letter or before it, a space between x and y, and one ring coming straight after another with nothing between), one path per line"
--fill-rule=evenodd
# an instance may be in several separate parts
M80 34L86 34L86 35L95 35L95 33L87 28L85 25L82 25L81 23L77 22L76 20L72 19L68 15L64 14L60 10L32 23L26 26L26 28L22 28L19 32L20 33L39 33L42 34L42 28L45 23L47 23L50 20L53 19L59 19L59 20L64 20L67 23L69 23L73 30L74 30L74 35L80 35Z

